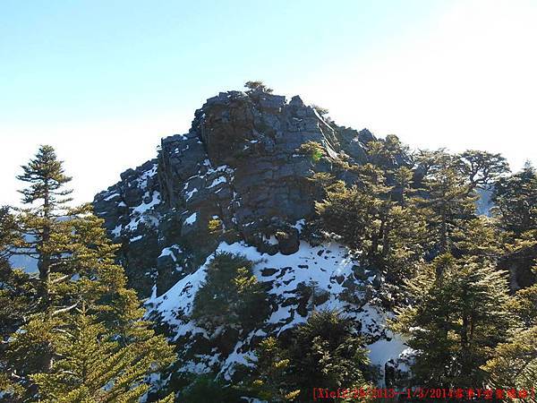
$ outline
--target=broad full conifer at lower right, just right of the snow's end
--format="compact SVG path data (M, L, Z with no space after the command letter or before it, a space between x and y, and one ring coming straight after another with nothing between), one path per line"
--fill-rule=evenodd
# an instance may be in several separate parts
M492 348L507 338L507 280L490 262L440 255L406 281L411 305L398 310L394 330L417 355L414 385L479 387Z

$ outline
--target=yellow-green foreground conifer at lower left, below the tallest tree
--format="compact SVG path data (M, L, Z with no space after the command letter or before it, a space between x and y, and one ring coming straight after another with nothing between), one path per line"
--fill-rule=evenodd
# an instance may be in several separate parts
M169 350L165 339L152 337L122 346L114 333L83 308L52 339L58 358L47 373L30 376L44 402L138 402L149 390L146 376L172 361L171 355L163 361L155 354Z

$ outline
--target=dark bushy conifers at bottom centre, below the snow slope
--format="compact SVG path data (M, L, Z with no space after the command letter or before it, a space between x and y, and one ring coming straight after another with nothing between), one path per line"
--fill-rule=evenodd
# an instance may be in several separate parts
M268 338L255 351L252 390L269 401L310 401L314 387L360 388L368 358L354 323L335 311L311 313L286 347Z

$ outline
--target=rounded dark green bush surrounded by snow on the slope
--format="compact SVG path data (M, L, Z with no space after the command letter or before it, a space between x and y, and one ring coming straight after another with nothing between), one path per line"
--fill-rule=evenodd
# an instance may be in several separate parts
M217 253L209 262L207 279L198 290L192 319L208 330L238 328L244 333L263 322L268 296L243 255Z

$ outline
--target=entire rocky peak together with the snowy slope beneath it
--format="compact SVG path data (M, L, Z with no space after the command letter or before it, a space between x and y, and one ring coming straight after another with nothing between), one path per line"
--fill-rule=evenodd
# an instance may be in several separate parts
M325 308L362 323L371 362L382 374L391 360L393 372L405 345L386 329L386 313L371 304L380 274L361 268L343 245L312 246L301 232L321 195L309 178L325 172L352 181L345 164L368 162L374 140L366 129L324 119L300 97L287 102L262 91L222 92L195 112L189 133L166 137L157 159L98 193L96 213L122 244L130 286L149 297L149 316L181 346L174 376L233 376L260 339ZM254 330L215 336L191 318L217 251L255 262L270 313Z

